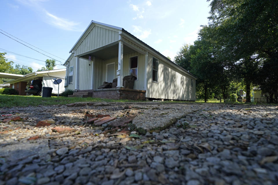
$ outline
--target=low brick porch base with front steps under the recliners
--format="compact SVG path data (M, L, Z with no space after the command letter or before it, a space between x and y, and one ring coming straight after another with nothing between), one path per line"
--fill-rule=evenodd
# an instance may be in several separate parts
M73 95L68 97L93 97L105 99L130 99L145 100L145 90L127 89L127 88L107 88L107 89L90 89L75 90Z

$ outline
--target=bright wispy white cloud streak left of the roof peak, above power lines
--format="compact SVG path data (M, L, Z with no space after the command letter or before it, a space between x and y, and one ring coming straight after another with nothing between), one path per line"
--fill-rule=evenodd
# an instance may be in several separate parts
M60 29L65 29L65 30L73 30L73 31L80 31L76 30L75 26L78 25L79 23L73 22L73 21L68 21L64 18L57 17L53 14L50 14L45 10L45 14L47 17L47 22L50 25L53 25L55 27L58 27Z

